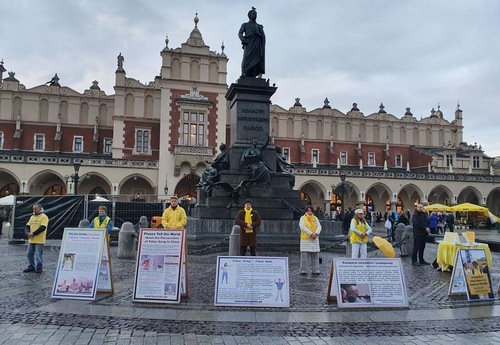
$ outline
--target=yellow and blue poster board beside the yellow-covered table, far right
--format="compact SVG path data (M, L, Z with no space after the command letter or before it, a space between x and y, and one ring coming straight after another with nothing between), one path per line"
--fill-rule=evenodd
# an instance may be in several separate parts
M459 249L457 256L455 266L462 266L467 287L467 299L469 301L494 299L490 270L484 249Z

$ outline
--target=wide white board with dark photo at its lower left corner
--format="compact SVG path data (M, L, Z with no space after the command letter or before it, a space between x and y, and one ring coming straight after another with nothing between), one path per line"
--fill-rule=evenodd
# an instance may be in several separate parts
M339 308L408 307L401 259L336 259Z

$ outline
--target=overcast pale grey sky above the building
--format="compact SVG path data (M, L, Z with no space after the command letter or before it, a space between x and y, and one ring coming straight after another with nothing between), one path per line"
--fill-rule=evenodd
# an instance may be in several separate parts
M369 115L420 119L441 106L464 115L464 140L500 155L500 1L497 0L16 0L2 3L0 59L27 88L49 81L78 92L93 80L113 94L116 56L143 83L160 70L160 51L186 42L198 13L205 44L229 58L228 83L240 75L237 37L251 6L267 38L272 101L296 97L308 111L352 103ZM4 75L6 77L6 75Z

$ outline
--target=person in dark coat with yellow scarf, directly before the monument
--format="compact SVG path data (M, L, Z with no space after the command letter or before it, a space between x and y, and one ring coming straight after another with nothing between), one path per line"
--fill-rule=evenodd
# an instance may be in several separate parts
M240 255L245 256L247 247L250 247L250 255L256 256L257 228L260 226L259 213L252 209L252 202L245 200L245 208L238 212L235 224L240 226Z

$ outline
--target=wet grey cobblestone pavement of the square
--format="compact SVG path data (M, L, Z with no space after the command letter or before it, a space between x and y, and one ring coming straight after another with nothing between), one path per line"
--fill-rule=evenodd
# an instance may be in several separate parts
M116 247L113 295L52 299L57 244L45 247L42 274L24 274L26 246L0 238L0 344L500 344L498 300L450 297L450 273L411 266L410 258L401 259L409 308L345 311L326 298L331 262L344 255L322 252L321 275L301 276L298 253L261 247L259 255L289 258L290 308L227 308L213 305L217 254L188 257L189 299L138 304L132 303L135 261L117 259ZM427 244L426 260L436 251ZM496 288L500 253L492 255Z

